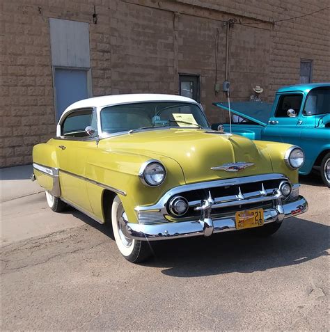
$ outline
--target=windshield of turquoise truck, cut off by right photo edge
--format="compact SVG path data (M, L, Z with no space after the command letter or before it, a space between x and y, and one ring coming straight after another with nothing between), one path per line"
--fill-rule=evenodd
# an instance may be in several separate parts
M308 93L303 114L315 116L316 114L330 113L330 87L315 88Z

